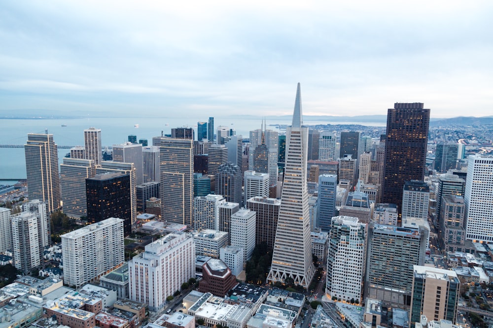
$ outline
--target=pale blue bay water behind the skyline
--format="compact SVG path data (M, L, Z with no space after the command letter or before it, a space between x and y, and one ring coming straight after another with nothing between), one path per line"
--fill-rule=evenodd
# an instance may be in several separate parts
M208 121L208 117L200 119L154 119L154 118L84 118L84 119L0 119L0 145L24 145L28 133L53 134L59 146L84 146L84 129L91 126L101 129L103 148L128 141L128 135L136 135L137 140L147 139L152 144L152 137L170 134L171 128L194 127L197 133L197 121ZM290 124L290 120L268 120L267 124ZM135 127L139 124L139 127ZM368 122L330 122L304 121L306 125L315 124L361 124L366 126L385 126L385 123ZM67 125L67 126L62 126ZM214 118L214 130L217 126L228 126L237 134L248 137L249 131L259 129L261 119L221 119ZM268 128L276 129L274 126ZM62 162L70 149L59 149L58 160ZM5 179L26 179L26 162L24 148L0 148L0 184L13 184L16 181Z

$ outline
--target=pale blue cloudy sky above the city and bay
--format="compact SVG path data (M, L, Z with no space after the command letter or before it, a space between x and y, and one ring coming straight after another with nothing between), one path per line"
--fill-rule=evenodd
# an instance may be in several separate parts
M493 115L493 1L0 2L0 115Z

